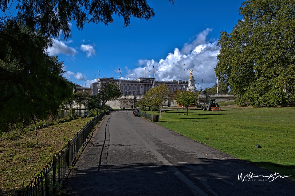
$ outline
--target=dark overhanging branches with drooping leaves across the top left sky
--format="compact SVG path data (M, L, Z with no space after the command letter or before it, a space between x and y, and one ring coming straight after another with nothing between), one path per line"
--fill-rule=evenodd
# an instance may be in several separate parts
M155 16L154 9L146 0L68 0L68 1L27 1L19 0L16 6L17 16L11 16L9 9L13 1L0 1L0 9L4 16L1 21L23 21L34 31L38 29L42 35L57 38L61 31L65 39L71 37L69 22L76 21L77 28L83 29L85 22L113 24L113 15L122 16L124 27L130 25L130 17L151 20ZM174 4L174 0L169 0ZM11 9L14 9L13 7ZM3 23L0 23L0 26Z

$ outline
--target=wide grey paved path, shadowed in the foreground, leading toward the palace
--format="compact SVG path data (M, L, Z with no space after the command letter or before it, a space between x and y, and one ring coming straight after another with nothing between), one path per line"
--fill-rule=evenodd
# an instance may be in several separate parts
M204 130L205 131L205 130ZM295 182L174 131L112 112L62 183L67 195L294 195ZM256 181L252 181L256 180ZM258 181L264 179L265 181ZM271 180L272 178L269 178Z

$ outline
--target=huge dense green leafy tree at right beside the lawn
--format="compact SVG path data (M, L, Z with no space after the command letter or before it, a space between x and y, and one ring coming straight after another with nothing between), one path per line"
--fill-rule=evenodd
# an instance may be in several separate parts
M238 104L294 102L295 2L248 0L231 33L221 32L215 72L238 95Z

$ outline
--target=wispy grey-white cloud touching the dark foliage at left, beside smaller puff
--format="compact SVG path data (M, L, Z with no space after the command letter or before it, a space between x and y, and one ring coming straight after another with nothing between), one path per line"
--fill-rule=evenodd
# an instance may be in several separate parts
M58 55L58 54L64 54L64 55L71 55L75 56L78 54L78 52L73 47L68 47L65 43L73 43L73 40L70 41L61 41L61 40L55 40L53 39L52 47L49 47L47 51L49 52L49 55Z

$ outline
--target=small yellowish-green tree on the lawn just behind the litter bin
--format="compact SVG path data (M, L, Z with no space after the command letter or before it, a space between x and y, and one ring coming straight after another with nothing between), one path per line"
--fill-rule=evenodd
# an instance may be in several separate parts
M144 94L144 99L147 105L160 107L160 118L162 118L163 103L171 99L171 92L165 84L157 85Z

